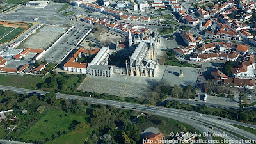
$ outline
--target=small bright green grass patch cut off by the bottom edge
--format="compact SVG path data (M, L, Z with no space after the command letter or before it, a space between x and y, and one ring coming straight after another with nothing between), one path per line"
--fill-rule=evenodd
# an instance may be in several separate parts
M84 141L88 139L88 136L91 131L92 131L92 128L90 127L88 130L82 129L80 131L68 132L68 134L63 134L59 138L52 140L50 144L84 143Z

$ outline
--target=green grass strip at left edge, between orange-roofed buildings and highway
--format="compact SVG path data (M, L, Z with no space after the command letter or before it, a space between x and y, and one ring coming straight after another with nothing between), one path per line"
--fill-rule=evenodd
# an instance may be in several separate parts
M0 74L0 84L5 86L17 86L19 88L38 89L36 84L42 83L41 77L17 76Z

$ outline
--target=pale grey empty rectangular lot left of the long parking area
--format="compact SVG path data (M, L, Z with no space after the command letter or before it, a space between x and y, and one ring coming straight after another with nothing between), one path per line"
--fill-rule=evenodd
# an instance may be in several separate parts
M67 31L67 27L43 26L24 40L18 48L24 49L29 47L32 49L47 49L51 44L58 40L65 31Z

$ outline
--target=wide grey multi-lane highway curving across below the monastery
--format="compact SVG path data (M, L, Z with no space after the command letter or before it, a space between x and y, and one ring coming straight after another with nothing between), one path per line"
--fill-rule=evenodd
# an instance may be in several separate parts
M40 93L41 95L45 95L45 93L49 93L49 92L44 92L40 90L28 90L24 88L15 88L11 86L2 86L2 85L0 85L0 90L13 90L14 92L17 92L17 93L38 93L38 94ZM194 111L164 108L160 106L148 106L145 104L118 102L113 100L95 99L92 97L81 97L76 95L67 95L63 93L56 93L56 97L57 99L66 98L66 99L79 99L79 100L91 101L92 104L106 104L106 105L115 106L116 108L136 110L136 111L141 111L143 113L152 113L154 115L172 118L174 120L179 120L180 122L184 122L186 124L189 124L195 127L196 129L198 129L198 131L202 132L202 134L205 134L207 132L212 132L214 134L223 133L225 131L223 131L222 129L225 129L227 131L231 131L236 134L239 134L244 138L247 138L248 140L254 140L256 138L254 134L238 129L237 127L234 127L230 124L243 125L246 127L252 127L254 129L256 129L256 125L244 124L243 122L237 122L234 120L229 120L227 118L222 118L221 120L219 120L218 119L219 117L211 116L211 115L199 116L198 113ZM216 125L217 127L215 127L215 129L211 129L210 128L211 125L209 124ZM221 127L222 129L218 129L218 127ZM227 140L240 140L240 138L237 138L237 136L229 134L228 132L225 132L225 133L228 134L228 137L225 138ZM207 140L212 140L211 136L207 136L206 138Z

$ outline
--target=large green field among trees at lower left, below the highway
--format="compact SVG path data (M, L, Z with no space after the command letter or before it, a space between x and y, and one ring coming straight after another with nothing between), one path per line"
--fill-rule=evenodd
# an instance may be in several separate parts
M56 134L58 131L68 131L68 127L70 127L73 120L86 122L86 115L68 114L68 116L65 116L65 114L67 113L64 111L50 111L20 138L24 138L24 140L44 140L45 138L51 138L52 134ZM44 132L44 134L41 134L41 132Z

